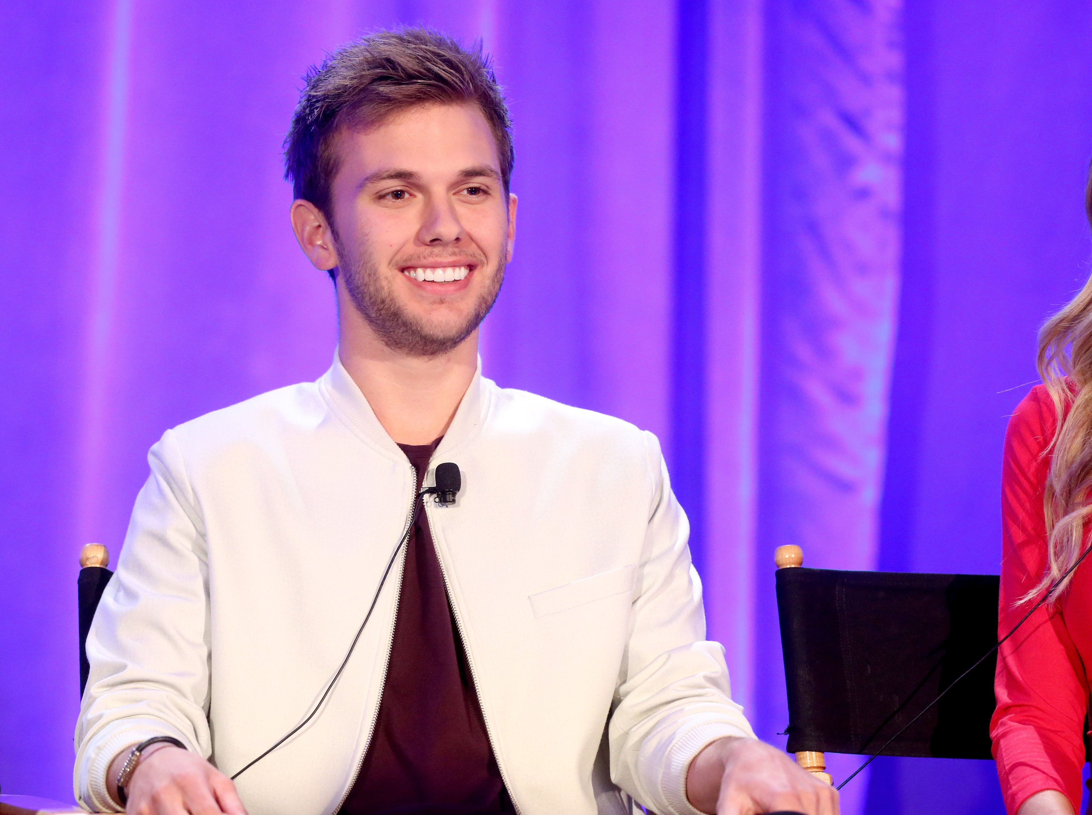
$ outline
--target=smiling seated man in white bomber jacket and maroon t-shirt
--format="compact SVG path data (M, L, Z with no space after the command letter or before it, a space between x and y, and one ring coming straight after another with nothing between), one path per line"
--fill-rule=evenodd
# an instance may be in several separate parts
M483 57L419 29L342 49L286 165L334 364L152 448L87 639L80 802L834 815L731 700L655 438L480 376L517 209Z

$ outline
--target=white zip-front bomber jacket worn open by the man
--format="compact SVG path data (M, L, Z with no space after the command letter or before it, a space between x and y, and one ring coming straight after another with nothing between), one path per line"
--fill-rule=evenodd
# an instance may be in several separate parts
M87 637L75 792L171 735L228 776L298 724L356 634L407 522L413 466L335 358L164 434ZM494 754L522 815L692 815L686 769L751 736L704 641L688 525L655 437L502 390L480 370L432 457L427 501ZM400 555L320 712L236 784L251 815L330 815L383 688Z

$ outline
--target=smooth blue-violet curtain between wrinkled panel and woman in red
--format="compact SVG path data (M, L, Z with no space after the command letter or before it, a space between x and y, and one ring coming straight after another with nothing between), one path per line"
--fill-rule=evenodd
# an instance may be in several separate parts
M880 568L999 568L1035 331L1089 276L1092 4L907 0L902 297ZM985 761L880 760L869 815L1002 812ZM1083 807L1082 807L1083 812Z

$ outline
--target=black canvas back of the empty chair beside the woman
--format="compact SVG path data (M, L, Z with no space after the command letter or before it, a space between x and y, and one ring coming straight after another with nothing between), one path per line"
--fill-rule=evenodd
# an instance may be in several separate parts
M776 572L792 753L875 753L997 642L996 576L794 565ZM996 664L990 654L883 755L990 758Z

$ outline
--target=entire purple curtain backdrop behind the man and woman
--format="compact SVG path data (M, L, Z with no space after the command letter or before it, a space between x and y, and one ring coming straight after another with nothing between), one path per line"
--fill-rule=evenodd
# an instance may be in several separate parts
M304 69L377 26L496 55L521 203L486 371L661 437L760 735L775 545L996 572L1005 417L1088 274L1092 9L904 4L0 8L3 791L71 800L76 554L117 554L147 447L330 363L280 143ZM989 763L881 760L843 801L1001 812Z

